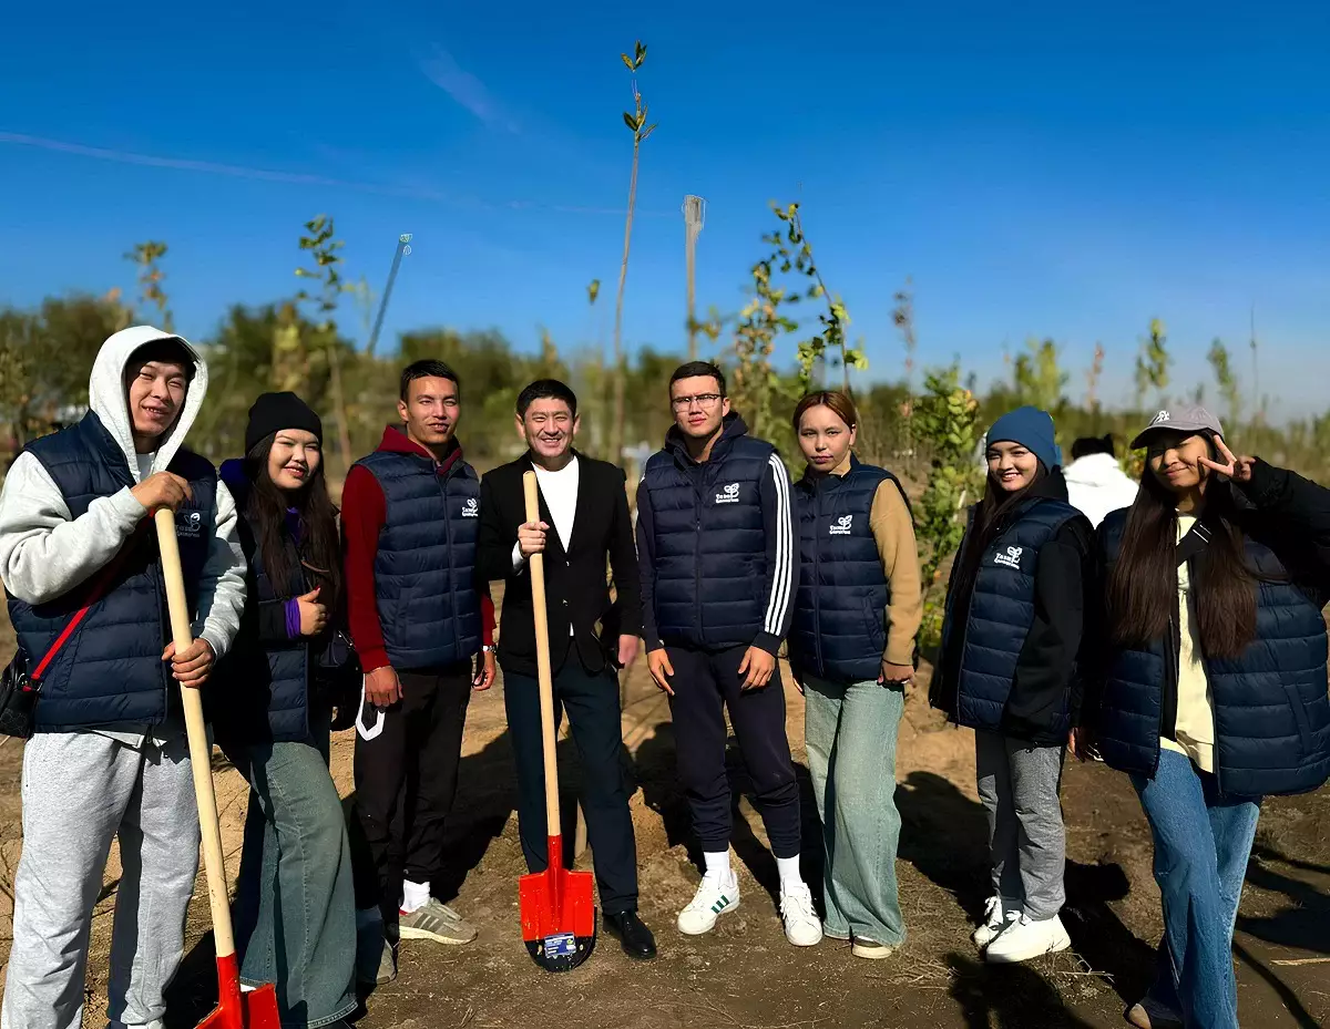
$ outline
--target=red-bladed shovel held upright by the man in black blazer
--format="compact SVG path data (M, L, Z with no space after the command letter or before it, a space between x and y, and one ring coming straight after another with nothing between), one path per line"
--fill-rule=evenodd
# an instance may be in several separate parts
M540 521L536 473L525 472L521 487L527 521ZM555 685L549 670L549 626L545 624L545 558L532 554L531 608L536 622L536 677L540 681L540 729L545 752L545 831L549 850L544 872L517 880L521 939L532 960L547 972L571 972L596 948L596 901L591 872L564 868L564 838L559 823L559 764L555 759Z

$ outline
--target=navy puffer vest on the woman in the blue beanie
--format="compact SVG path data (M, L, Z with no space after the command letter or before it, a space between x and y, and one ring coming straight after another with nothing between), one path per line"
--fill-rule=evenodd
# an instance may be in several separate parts
M1080 517L1084 516L1063 500L1025 501L980 558L963 626L955 624L959 598L947 598L942 653L960 655L959 667L947 670L947 678L955 682L951 715L958 725L990 731L1001 729L1016 663L1035 624L1039 552L1063 525ZM964 634L959 651L951 638L958 631ZM1069 697L1065 701L1061 722L1053 726L1055 734L1071 729Z

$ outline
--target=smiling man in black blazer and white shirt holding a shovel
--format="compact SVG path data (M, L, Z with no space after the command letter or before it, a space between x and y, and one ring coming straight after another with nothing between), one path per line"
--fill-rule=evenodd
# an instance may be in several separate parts
M545 868L545 778L541 754L536 630L527 560L545 554L545 617L555 677L555 722L567 709L581 754L583 811L596 854L605 928L632 957L656 956L637 916L637 844L620 766L618 669L632 665L641 633L641 581L624 471L572 448L577 396L540 379L517 398L527 452L480 483L479 561L504 581L499 666L517 763L517 823L527 867ZM527 521L523 473L535 469L540 520ZM617 598L610 602L605 560Z

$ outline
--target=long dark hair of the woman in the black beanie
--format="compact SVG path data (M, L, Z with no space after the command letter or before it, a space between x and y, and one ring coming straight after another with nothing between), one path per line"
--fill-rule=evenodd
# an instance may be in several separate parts
M305 577L319 586L319 602L338 610L342 598L340 544L336 530L336 507L329 496L323 461L310 475L305 488L287 493L267 473L267 457L277 433L265 436L245 455L245 477L250 481L246 516L254 528L263 570L278 594L290 589L295 561ZM297 548L286 528L286 512L294 508L301 520L301 542Z

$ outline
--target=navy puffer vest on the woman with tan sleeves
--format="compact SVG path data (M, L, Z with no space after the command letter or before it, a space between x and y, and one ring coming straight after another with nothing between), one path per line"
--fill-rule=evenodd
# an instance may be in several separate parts
M790 662L837 682L882 674L891 588L868 516L891 472L851 457L845 476L805 476L794 489L799 518L799 585Z

